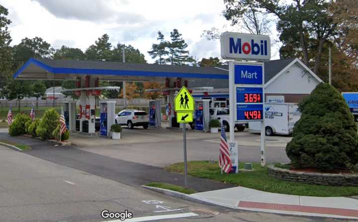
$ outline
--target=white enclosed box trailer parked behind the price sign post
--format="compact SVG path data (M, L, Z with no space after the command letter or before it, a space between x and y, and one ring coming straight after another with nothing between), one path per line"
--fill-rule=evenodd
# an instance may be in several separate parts
M294 124L301 118L296 103L265 103L264 112L267 136L292 134ZM260 126L260 122L249 122L249 131L260 133Z

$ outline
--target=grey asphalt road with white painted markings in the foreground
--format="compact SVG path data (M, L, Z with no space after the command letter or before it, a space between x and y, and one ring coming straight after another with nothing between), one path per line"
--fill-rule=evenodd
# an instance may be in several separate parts
M187 202L1 146L0 169L1 222L102 222L104 209L128 210L136 218L195 214L164 222L326 221Z

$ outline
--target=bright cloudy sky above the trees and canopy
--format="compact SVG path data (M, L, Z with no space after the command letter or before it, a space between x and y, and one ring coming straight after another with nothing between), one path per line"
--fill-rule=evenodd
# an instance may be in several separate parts
M190 55L201 59L220 56L219 41L200 37L203 30L237 30L221 15L223 0L0 0L0 4L9 10L12 45L39 36L55 49L66 45L86 50L107 33L112 45L131 44L149 63L154 60L147 51L158 31L169 39L177 28ZM278 59L277 47L271 49L271 59Z

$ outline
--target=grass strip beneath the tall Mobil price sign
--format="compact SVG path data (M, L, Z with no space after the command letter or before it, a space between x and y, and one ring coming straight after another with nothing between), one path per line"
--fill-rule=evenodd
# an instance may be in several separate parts
M242 171L238 174L221 175L220 167L217 162L190 161L187 163L188 175L231 183L237 186L266 192L317 197L358 195L358 187L334 187L287 182L270 177L267 174L267 168L262 167L260 163L254 163L253 166L255 169L254 171ZM244 163L240 163L239 169L243 167ZM184 165L182 162L175 163L165 169L170 172L183 174Z

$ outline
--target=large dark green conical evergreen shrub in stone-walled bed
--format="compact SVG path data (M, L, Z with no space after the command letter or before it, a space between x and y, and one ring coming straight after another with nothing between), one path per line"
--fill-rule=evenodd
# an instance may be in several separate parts
M332 170L358 162L357 126L338 90L320 83L298 105L301 119L286 147L293 167Z

